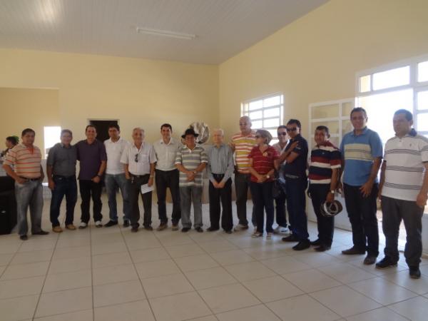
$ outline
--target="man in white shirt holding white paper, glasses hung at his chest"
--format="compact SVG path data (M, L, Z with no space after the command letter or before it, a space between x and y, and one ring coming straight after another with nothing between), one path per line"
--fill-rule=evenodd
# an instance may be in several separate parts
M140 224L140 209L138 195L143 199L145 230L153 230L151 226L152 191L141 193L141 186L153 186L155 177L156 154L153 146L144 141L144 130L134 128L132 131L133 144L122 153L121 163L124 164L125 177L128 180L129 203L131 206L131 232L137 232Z

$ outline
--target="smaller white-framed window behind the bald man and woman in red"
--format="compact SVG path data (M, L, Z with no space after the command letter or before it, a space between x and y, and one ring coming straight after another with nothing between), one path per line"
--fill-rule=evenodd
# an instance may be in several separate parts
M277 143L277 127L282 124L284 108L282 94L276 93L241 103L241 116L248 116L253 129L265 129L272 135L272 142Z

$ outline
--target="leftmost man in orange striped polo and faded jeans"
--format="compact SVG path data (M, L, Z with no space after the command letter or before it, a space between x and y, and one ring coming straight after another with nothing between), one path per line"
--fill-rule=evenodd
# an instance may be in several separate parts
M30 208L31 234L46 235L41 229L41 213L43 210L43 168L41 168L41 152L34 146L36 133L31 128L22 131L22 143L12 148L6 156L3 168L15 180L15 194L18 233L21 240L27 240L28 224L27 209ZM14 168L12 168L14 166Z

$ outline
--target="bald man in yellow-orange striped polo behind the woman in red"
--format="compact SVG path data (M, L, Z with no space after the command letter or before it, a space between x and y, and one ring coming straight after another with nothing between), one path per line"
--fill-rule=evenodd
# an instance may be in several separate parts
M248 155L253 147L257 146L255 142L255 131L251 129L251 120L248 116L243 116L239 119L240 133L232 136L230 147L235 151L235 193L236 193L236 212L238 214L238 225L235 231L247 230L247 195L250 188L250 159ZM251 220L255 226L255 214Z

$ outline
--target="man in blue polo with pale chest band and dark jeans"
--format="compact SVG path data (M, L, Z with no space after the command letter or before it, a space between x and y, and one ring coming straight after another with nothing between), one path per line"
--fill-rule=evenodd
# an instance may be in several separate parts
M344 163L343 191L354 243L342 254L365 254L367 250L364 264L371 265L379 255L376 198L382 141L375 131L367 128L367 120L364 108L354 108L351 111L354 131L343 136L340 144Z

